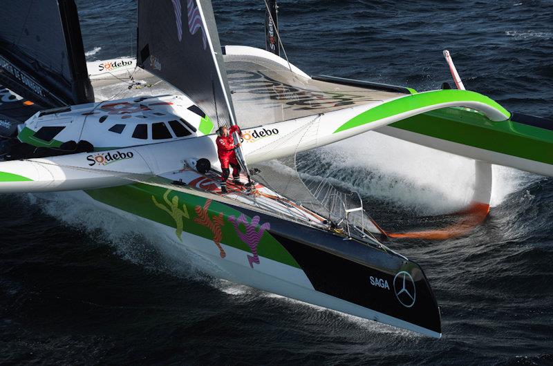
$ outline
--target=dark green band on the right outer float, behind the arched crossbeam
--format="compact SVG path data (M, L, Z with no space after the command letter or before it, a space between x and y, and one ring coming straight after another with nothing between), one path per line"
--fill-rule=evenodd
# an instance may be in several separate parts
M395 128L553 164L553 131L512 121L492 122L462 108L443 108L390 124Z

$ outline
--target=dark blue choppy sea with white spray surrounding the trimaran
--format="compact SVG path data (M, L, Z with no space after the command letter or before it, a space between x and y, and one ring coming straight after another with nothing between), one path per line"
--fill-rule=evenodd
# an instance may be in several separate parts
M135 52L135 1L78 0L88 61ZM417 90L450 81L553 117L553 1L289 0L290 61ZM261 0L214 1L221 44L265 47ZM467 204L473 162L371 132L321 148L310 173L362 194L393 230ZM314 157L315 156L315 157ZM424 268L443 337L250 289L138 222L65 194L0 196L0 363L553 364L553 180L494 167L465 237L393 240Z

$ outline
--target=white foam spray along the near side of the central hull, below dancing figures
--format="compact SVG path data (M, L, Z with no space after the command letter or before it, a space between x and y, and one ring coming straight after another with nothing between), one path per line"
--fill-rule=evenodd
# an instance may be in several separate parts
M212 282L206 276L221 276L212 262L190 251L184 244L169 238L138 216L115 213L95 204L82 192L28 194L31 204L71 227L84 230L96 241L107 242L115 253L136 264L155 271L167 271L202 282Z

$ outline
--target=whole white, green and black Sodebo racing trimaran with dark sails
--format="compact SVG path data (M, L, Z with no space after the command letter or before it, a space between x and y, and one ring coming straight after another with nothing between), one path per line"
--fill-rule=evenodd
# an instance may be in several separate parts
M139 0L136 59L87 67L73 0L3 4L0 192L77 191L229 280L441 336L420 266L375 238L385 232L362 203L302 179L297 153L375 130L469 157L485 215L490 164L553 175L553 123L464 90L449 54L456 89L310 77L279 56L277 6L265 5L261 50L221 47L209 0ZM118 92L95 99L106 90ZM214 133L237 123L251 181L223 195Z

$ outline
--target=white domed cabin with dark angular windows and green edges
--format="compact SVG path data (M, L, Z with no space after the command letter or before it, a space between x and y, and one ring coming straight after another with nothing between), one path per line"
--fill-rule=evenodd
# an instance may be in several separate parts
M102 151L208 135L214 124L184 95L158 95L41 110L19 130L32 146Z

